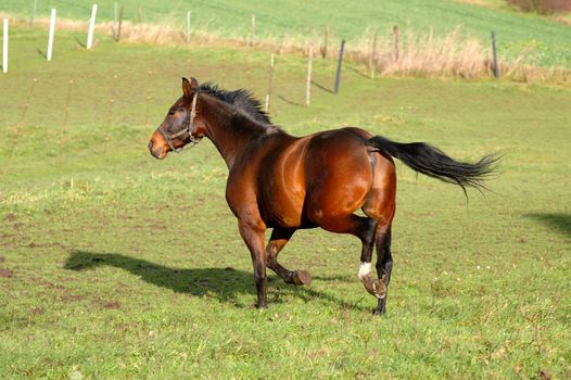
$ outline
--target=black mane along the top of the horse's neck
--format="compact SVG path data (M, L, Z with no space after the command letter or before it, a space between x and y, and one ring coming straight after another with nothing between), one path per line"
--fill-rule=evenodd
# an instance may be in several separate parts
M254 98L252 92L243 88L236 91L227 91L213 83L205 83L199 86L199 92L207 93L242 112L251 119L264 127L277 128L271 124L268 114L263 110L262 103Z

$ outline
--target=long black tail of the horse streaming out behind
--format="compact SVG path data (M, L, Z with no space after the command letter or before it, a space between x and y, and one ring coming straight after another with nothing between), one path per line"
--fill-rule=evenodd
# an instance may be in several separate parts
M493 173L493 164L499 160L496 155L485 155L474 164L462 163L427 143L401 143L381 136L365 141L365 144L370 147L371 151L389 153L408 167L429 177L459 185L465 193L467 186L478 190L485 189L483 180Z

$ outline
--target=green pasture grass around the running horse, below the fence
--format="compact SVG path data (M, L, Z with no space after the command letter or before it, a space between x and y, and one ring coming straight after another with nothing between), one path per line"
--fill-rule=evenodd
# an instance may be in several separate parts
M334 96L323 90L334 63L318 60L305 107L305 61L278 56L270 112L291 134L358 125L459 159L504 159L491 191L470 192L469 204L397 164L383 318L356 279L358 241L321 230L296 233L280 256L314 283L270 275L269 308L257 311L215 148L158 162L147 142L180 76L262 98L267 53L85 51L81 34L59 36L48 63L41 30L14 29L18 50L0 76L3 379L571 377L569 89L371 80L347 64Z

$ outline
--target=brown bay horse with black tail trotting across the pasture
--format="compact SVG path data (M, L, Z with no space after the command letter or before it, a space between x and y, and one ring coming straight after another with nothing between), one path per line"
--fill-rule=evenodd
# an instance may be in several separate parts
M228 166L226 200L254 267L258 308L267 306L266 268L286 283L309 284L306 270L290 270L278 254L299 229L320 227L361 242L357 278L386 311L391 281L391 225L395 215L394 159L430 177L485 189L495 155L475 163L451 159L422 142L398 143L344 127L303 137L274 125L250 91L228 91L182 78L182 96L170 106L149 142L158 160L208 138ZM361 210L365 216L356 215ZM265 231L272 228L264 246ZM377 278L371 275L373 246Z

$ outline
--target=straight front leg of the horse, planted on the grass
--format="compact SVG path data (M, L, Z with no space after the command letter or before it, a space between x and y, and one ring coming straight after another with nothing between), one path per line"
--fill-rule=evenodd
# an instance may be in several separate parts
M252 255L252 264L254 266L254 282L257 290L257 308L267 306L266 288L266 250L264 249L264 232L266 226L262 221L248 223L243 220L238 221L240 236L244 240L250 254Z

